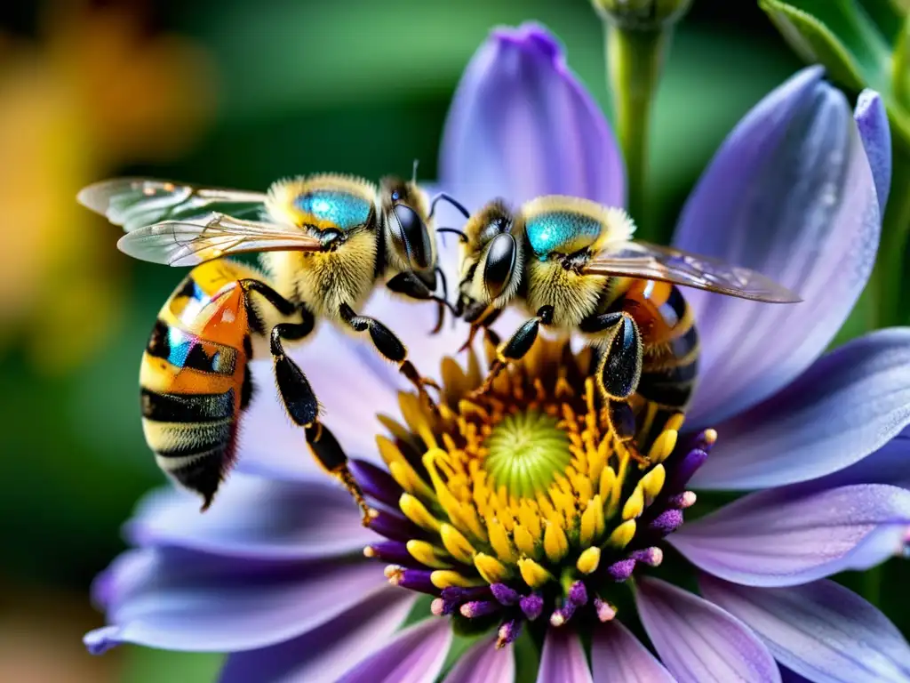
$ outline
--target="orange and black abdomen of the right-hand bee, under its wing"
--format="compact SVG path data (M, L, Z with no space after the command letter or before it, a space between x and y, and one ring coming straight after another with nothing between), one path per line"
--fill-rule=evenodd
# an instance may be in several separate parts
M635 280L614 304L632 314L642 335L642 379L637 393L646 404L644 430L660 429L689 403L698 375L699 343L693 312L675 285ZM647 437L645 437L647 438Z

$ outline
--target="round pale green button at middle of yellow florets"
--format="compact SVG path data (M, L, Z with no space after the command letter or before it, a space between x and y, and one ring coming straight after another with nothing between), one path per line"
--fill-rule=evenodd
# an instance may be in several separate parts
M543 493L571 463L569 436L555 417L536 410L506 415L485 445L491 483L519 498Z

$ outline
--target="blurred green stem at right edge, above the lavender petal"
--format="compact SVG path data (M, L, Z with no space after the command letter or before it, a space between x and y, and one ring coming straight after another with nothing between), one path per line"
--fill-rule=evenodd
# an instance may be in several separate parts
M896 138L892 145L893 170L888 206L882 220L882 238L872 273L877 299L875 327L905 325L910 322L905 273L907 237L910 235L910 149Z

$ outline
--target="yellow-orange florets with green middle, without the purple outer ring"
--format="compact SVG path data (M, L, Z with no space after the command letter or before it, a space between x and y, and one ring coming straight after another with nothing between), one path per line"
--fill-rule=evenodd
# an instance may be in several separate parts
M622 557L636 519L661 495L660 463L675 448L682 415L662 431L652 429L655 410L640 415L649 425L642 434L657 434L638 444L651 458L640 465L611 431L593 354L564 346L538 340L478 394L477 357L469 353L465 368L446 359L437 410L403 393L404 423L380 417L389 438L379 437L379 453L405 492L400 511L432 535L406 545L432 570L433 586L523 582L527 594L556 584L567 595L571 582ZM403 571L390 566L387 576L394 583Z

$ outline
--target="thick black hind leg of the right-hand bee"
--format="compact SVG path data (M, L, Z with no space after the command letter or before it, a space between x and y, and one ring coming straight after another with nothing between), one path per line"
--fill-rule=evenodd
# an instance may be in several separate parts
M597 383L607 400L607 416L612 432L633 460L647 464L648 459L634 445L635 415L629 404L642 379L642 338L638 325L628 313L614 312L591 316L581 321L580 329L589 333L604 333Z

